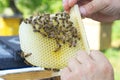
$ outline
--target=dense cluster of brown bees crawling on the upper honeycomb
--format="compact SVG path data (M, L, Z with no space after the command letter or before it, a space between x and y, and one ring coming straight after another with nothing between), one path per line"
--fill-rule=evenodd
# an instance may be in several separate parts
M26 24L33 26L33 31L40 33L42 36L54 39L57 52L63 44L69 47L76 47L77 40L80 40L77 29L73 22L70 21L70 15L65 12L50 14L38 14L24 20Z

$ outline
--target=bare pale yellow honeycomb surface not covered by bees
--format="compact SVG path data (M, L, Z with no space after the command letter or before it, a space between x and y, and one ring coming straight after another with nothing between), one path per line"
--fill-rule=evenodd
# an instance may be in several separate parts
M24 55L32 53L25 58L29 63L43 68L62 69L67 66L67 62L71 57L76 56L77 51L88 51L84 28L82 28L81 32L81 24L79 25L80 22L78 22L78 18L80 17L76 17L74 8L70 12L70 20L73 22L73 25L80 35L80 40L77 41L76 47L69 47L68 44L64 44L60 50L55 52L56 42L54 39L49 39L39 33L33 32L31 24L26 24L25 22L21 23L19 28L20 46Z

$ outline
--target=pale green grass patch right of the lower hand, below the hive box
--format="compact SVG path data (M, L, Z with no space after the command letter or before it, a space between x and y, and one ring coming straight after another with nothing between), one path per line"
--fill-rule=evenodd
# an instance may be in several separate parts
M115 80L120 80L120 48L110 48L103 52L114 68Z

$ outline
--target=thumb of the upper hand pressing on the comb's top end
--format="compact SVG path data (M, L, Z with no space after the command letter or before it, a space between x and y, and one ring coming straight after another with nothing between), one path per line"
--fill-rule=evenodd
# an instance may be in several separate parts
M83 16L89 16L106 8L109 3L109 0L92 0L89 3L80 6L80 12Z

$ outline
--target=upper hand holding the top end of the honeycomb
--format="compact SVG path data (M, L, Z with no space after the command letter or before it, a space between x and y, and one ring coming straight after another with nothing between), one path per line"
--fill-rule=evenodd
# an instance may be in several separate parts
M79 5L82 16L101 22L120 19L120 0L63 0L65 11Z

